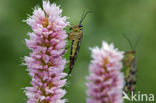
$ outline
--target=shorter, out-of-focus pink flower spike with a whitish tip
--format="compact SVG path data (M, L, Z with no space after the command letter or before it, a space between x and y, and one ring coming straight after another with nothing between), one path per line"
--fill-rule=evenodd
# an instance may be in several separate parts
M92 48L92 61L87 77L87 103L123 103L124 77L121 72L123 52L113 44L102 42L102 48Z

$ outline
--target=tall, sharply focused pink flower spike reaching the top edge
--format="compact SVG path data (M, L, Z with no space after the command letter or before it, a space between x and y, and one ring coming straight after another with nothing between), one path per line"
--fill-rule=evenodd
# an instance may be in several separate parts
M62 10L56 4L43 1L43 9L35 8L33 15L26 20L32 27L26 45L32 50L25 56L32 87L26 87L27 103L65 103L62 99L66 91L66 73L63 73L66 60L63 51L66 45L66 31L69 25Z

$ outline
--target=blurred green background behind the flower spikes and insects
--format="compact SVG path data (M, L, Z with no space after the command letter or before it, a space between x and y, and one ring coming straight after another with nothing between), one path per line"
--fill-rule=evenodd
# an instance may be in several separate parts
M129 44L122 36L126 33L137 46L137 90L156 95L156 0L55 0L71 25L79 22L85 8L93 10L84 20L84 38L75 64L67 95L69 103L86 102L86 79L91 60L89 47L101 46L101 41L113 42L122 51ZM30 86L23 57L30 50L24 39L31 28L22 20L32 14L42 0L0 0L0 103L25 103L24 87ZM68 71L67 69L65 71ZM125 101L125 103L130 103ZM137 103L137 102L134 102ZM140 102L138 102L140 103ZM142 102L144 103L144 102ZM149 102L147 102L149 103Z

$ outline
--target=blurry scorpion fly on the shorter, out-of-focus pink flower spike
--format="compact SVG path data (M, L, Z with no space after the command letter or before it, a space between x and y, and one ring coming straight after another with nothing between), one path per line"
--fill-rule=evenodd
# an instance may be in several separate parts
M136 89L136 77L137 77L137 57L136 57L136 46L138 44L139 39L136 42L135 48L132 45L131 40L125 35L123 34L124 37L127 39L131 50L125 52L125 57L123 60L123 65L126 68L126 77L125 77L125 86L124 86L124 91L126 93L130 92L134 92Z

